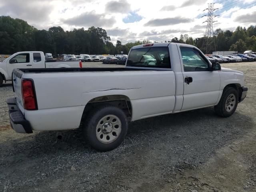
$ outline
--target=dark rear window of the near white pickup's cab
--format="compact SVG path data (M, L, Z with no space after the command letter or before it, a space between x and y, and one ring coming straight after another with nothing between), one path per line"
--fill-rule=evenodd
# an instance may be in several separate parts
M128 67L171 68L168 47L132 49L127 58Z

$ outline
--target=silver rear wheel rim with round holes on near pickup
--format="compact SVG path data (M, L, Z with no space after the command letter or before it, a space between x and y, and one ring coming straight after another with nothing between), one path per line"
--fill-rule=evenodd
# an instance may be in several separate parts
M121 120L115 115L106 115L96 126L96 138L102 143L112 143L118 138L121 130Z

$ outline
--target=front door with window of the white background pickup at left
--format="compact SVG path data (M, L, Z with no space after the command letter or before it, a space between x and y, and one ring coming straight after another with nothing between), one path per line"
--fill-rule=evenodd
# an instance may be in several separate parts
M7 62L7 71L10 77L12 76L12 70L24 68L32 68L32 64L30 62L30 53L17 54L10 58Z

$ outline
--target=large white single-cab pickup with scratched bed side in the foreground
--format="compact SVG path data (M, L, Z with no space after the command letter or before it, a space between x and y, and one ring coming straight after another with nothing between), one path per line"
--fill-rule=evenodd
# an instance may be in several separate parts
M16 98L7 103L16 132L82 128L101 151L122 142L128 121L210 106L228 117L247 94L242 72L178 43L134 46L126 68L16 69L12 82Z

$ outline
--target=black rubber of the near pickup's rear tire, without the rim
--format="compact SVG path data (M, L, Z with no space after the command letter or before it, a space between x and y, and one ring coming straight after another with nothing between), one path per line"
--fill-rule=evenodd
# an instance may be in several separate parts
M121 131L117 138L115 138L114 141L110 143L103 143L98 140L96 136L96 127L100 120L108 115L114 115L117 116L121 122ZM113 121L114 122L114 121ZM84 134L89 142L89 144L95 148L96 150L99 151L109 151L113 150L114 148L118 147L121 142L124 140L127 130L128 130L128 123L127 123L127 118L123 110L120 108L117 108L115 106L110 106L110 105L102 105L93 110L88 118L85 120L84 124ZM102 125L103 129L103 125ZM113 128L114 130L114 128ZM113 131L112 130L112 131ZM103 133L103 130L100 130L100 132ZM105 134L106 135L106 134Z

